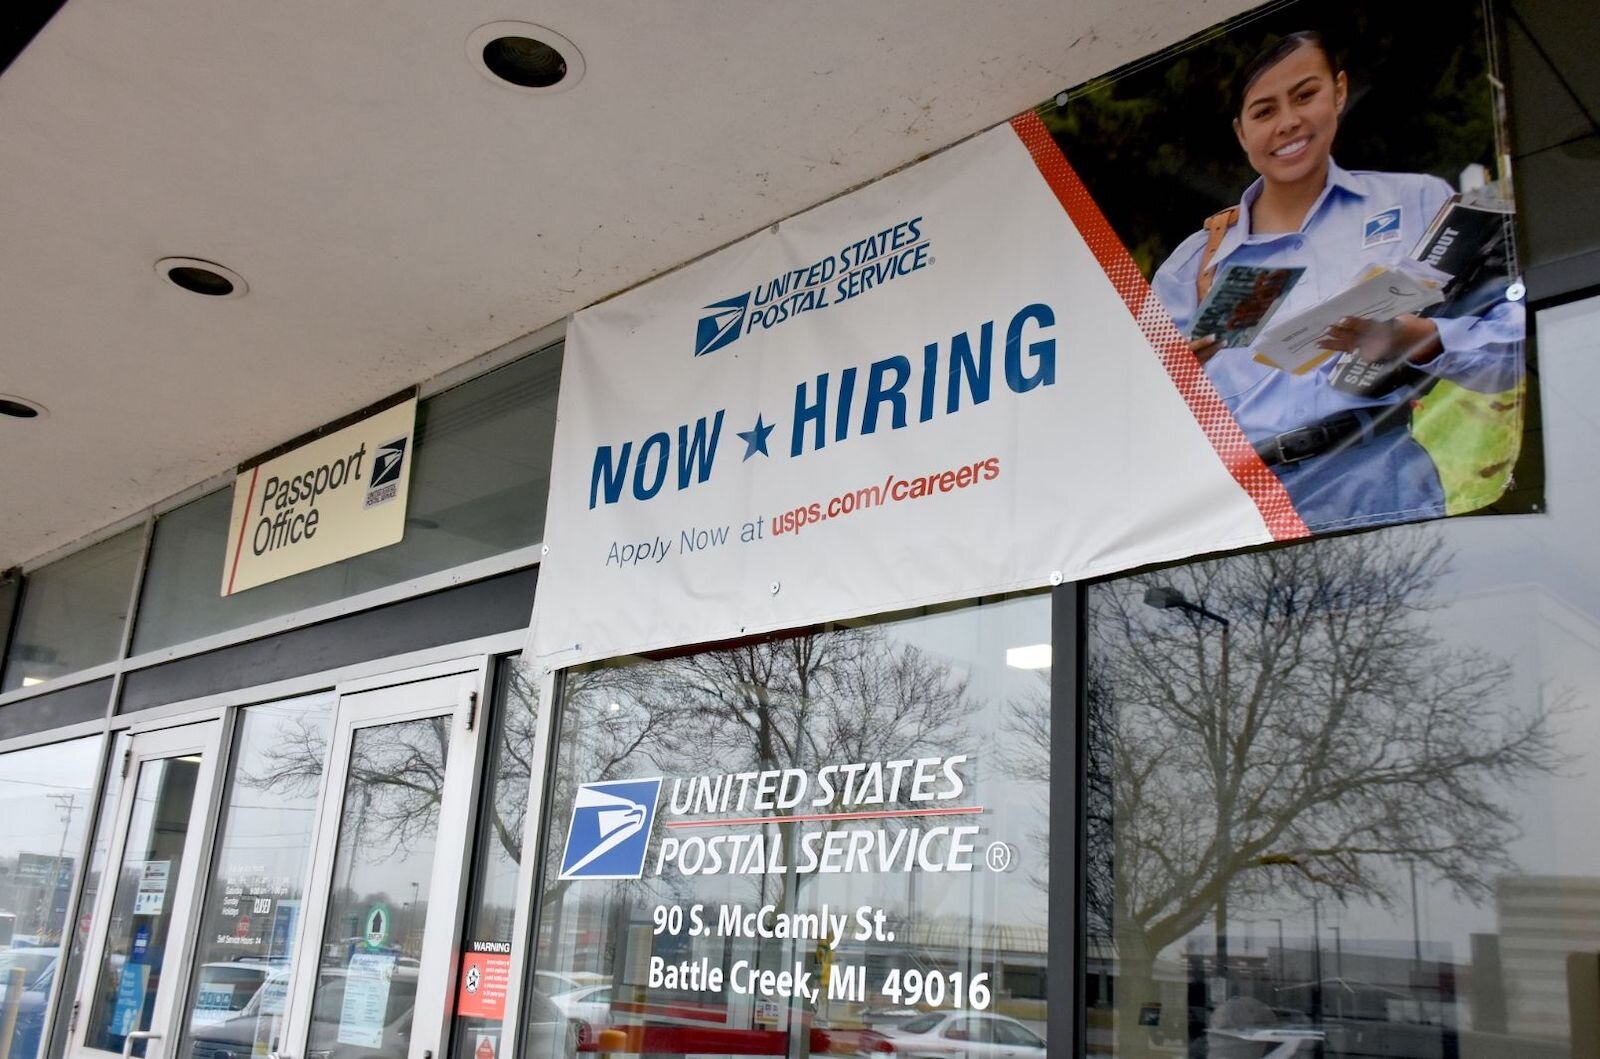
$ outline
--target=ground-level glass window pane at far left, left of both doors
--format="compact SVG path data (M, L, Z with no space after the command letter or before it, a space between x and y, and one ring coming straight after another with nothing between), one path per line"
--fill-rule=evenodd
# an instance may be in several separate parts
M10 1059L40 1054L102 747L93 736L0 757L0 1011L16 1008L0 1045Z

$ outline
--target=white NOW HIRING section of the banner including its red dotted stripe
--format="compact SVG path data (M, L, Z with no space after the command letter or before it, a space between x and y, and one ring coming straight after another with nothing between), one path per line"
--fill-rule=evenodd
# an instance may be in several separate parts
M531 654L1304 533L1022 115L573 318Z

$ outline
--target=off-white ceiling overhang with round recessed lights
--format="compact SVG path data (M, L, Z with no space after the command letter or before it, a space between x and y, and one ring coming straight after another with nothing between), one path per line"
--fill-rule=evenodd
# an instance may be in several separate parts
M0 75L0 568L1246 6L69 0Z

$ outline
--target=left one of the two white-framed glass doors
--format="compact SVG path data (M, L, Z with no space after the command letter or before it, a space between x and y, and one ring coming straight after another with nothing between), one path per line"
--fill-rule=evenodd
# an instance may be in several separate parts
M109 864L72 1019L75 1056L162 1059L181 982L219 721L123 736Z

